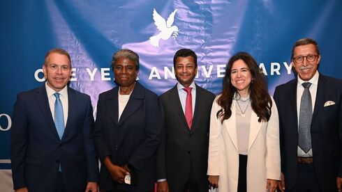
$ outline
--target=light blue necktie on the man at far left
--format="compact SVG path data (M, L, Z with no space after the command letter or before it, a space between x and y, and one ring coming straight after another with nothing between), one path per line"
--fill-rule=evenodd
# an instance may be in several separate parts
M59 95L61 94L54 93L54 97L56 97L56 102L54 102L54 125L56 126L59 139L61 139L64 133L64 113Z

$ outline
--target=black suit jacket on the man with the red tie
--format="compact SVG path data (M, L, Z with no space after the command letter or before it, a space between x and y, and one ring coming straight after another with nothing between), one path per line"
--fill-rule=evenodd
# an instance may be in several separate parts
M157 177L170 185L185 184L190 166L199 184L207 183L209 122L215 95L196 85L195 111L188 128L177 85L159 97L162 143L158 150Z

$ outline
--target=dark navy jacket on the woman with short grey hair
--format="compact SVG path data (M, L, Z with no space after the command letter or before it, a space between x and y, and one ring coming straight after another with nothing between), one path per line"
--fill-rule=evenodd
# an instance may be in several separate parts
M158 96L136 82L131 97L119 118L119 86L98 97L95 142L102 161L100 189L149 191L156 181L156 150L161 141L161 118ZM118 184L103 164L109 156L112 163L129 163L137 173L138 184Z

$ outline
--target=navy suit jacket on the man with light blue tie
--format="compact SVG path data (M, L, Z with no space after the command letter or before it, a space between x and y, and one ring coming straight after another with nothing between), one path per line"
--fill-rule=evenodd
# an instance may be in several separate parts
M68 120L59 140L45 85L17 95L11 129L11 163L14 189L53 191L59 163L66 191L85 191L98 181L91 131L93 109L89 95L68 88Z

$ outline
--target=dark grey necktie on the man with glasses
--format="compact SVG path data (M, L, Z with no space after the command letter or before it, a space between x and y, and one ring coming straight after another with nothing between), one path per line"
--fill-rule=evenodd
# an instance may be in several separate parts
M311 149L312 102L310 90L308 90L311 83L302 83L302 86L304 92L299 109L298 146L307 153Z

